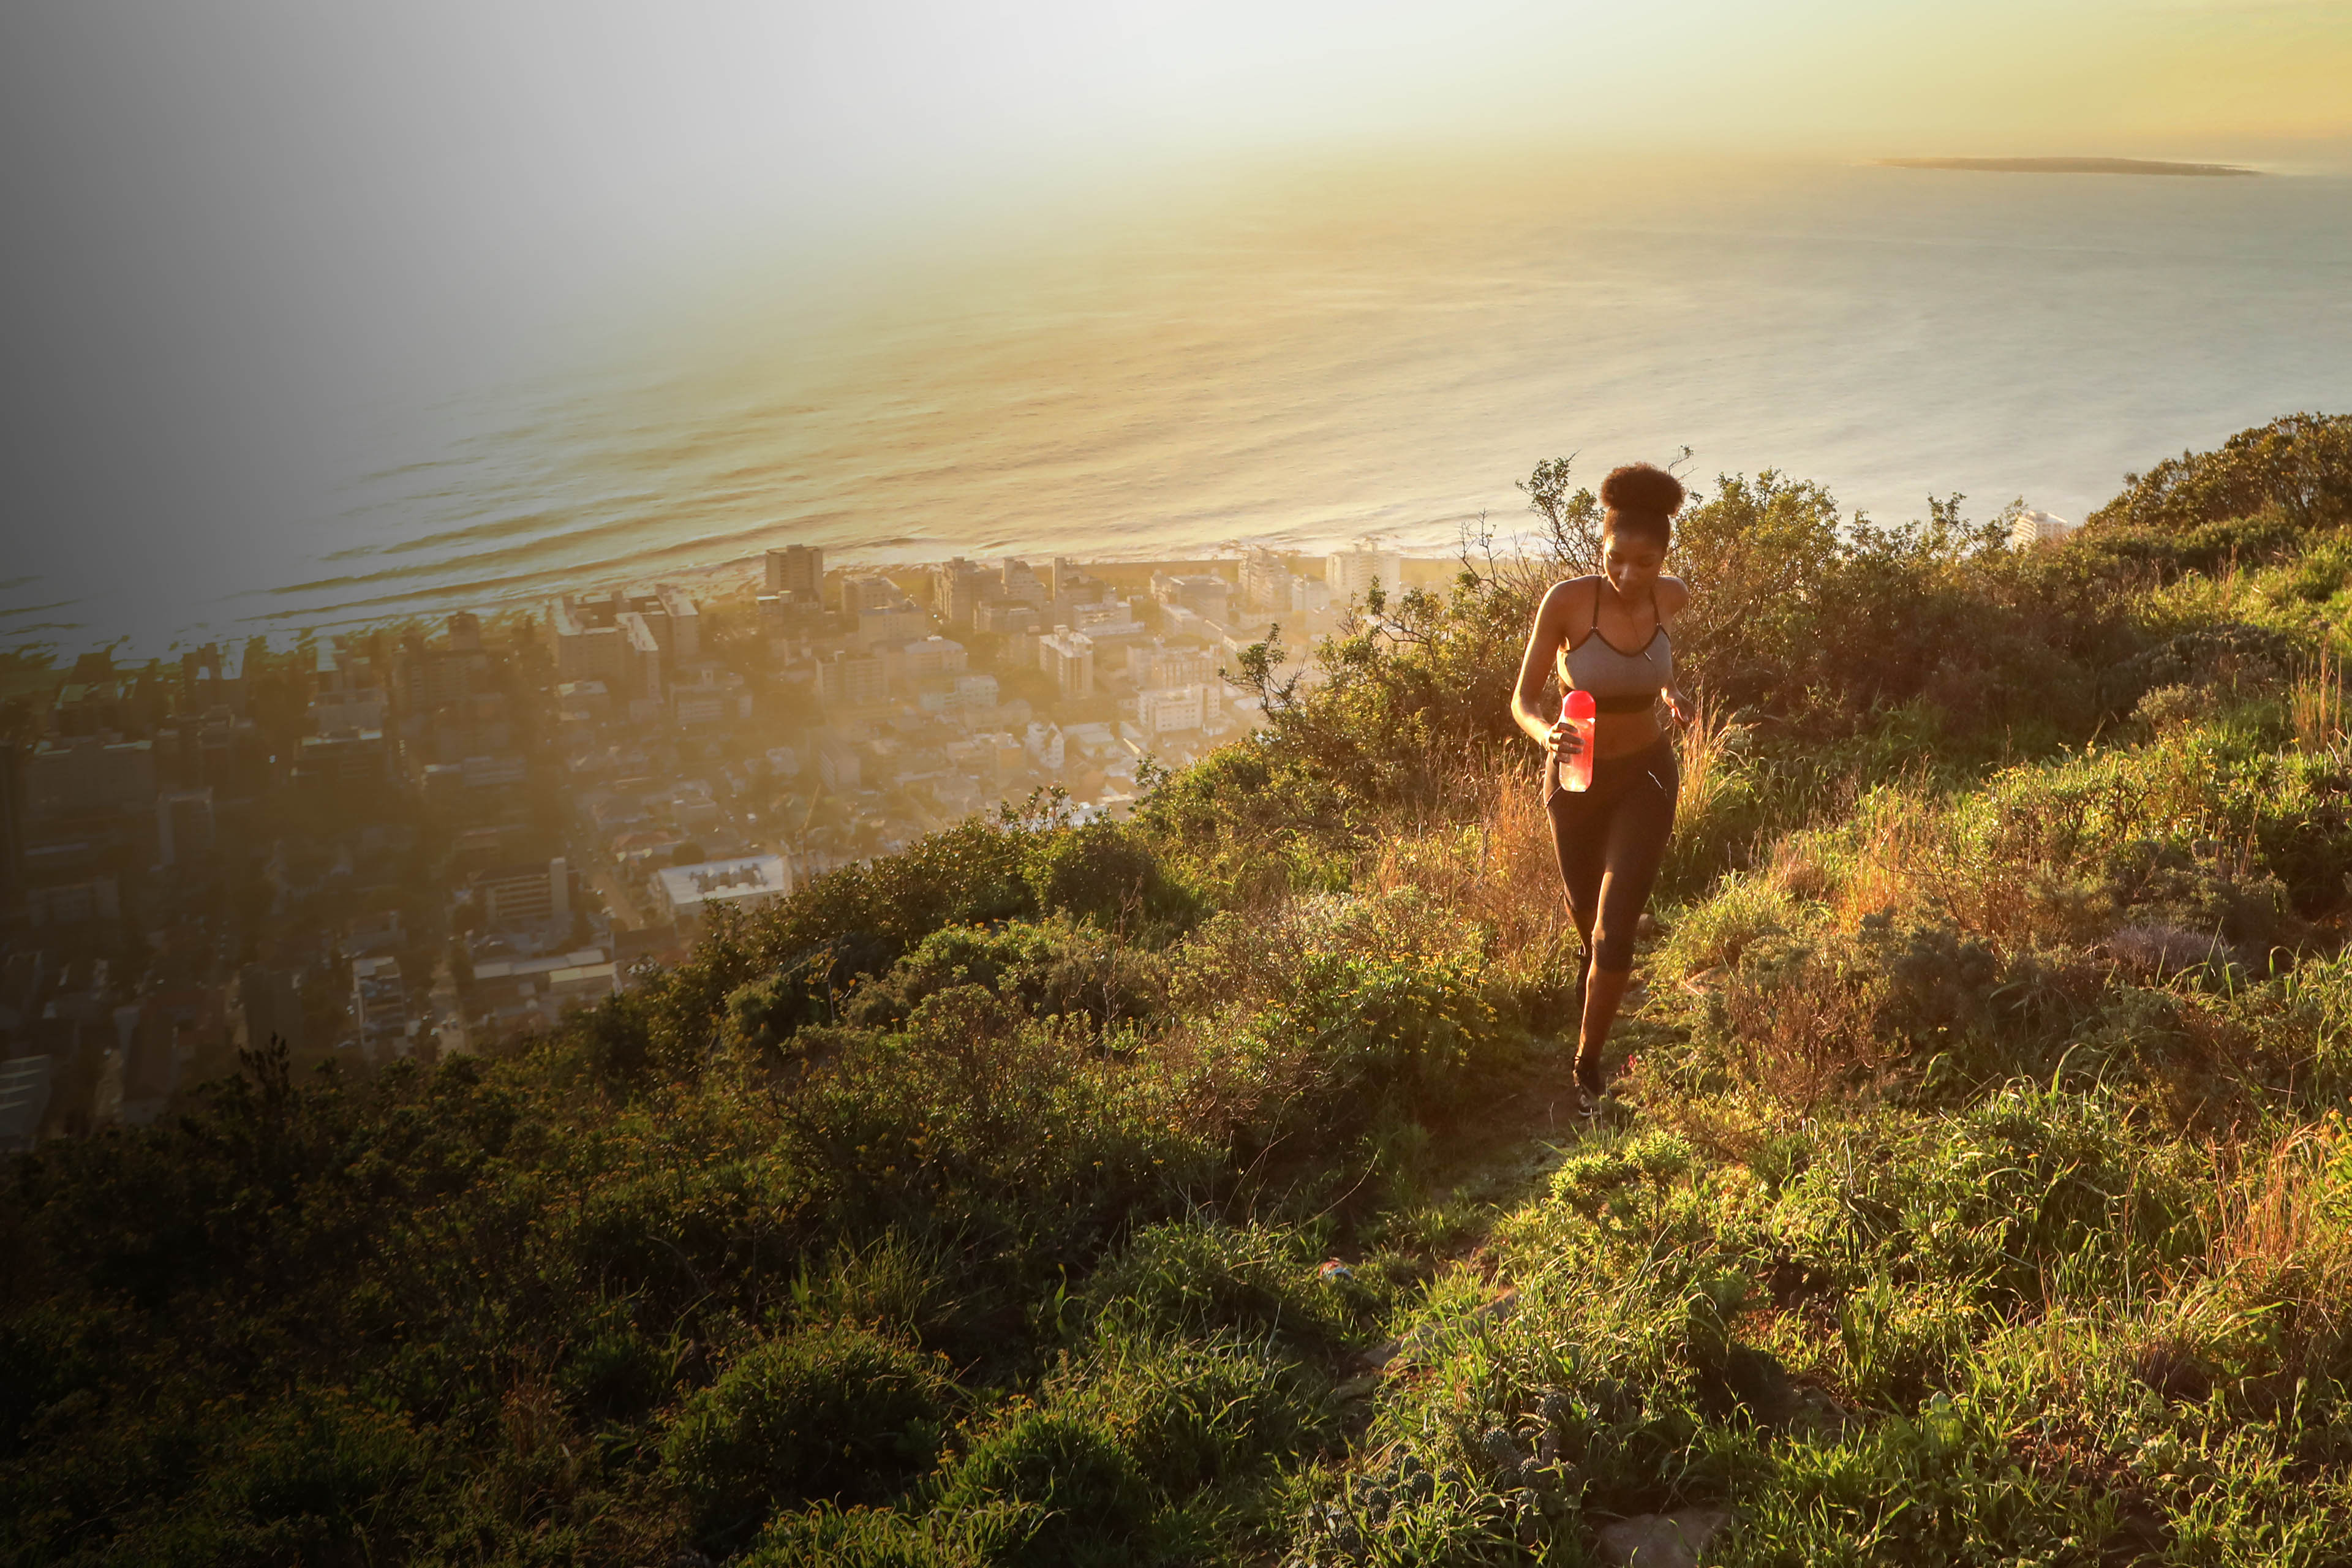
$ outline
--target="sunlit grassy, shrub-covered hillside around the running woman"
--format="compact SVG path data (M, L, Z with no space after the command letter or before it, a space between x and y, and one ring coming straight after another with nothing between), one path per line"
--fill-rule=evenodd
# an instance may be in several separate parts
M1531 494L1131 823L16 1159L5 1561L2352 1561L2352 421L2027 552L1724 477L1599 1128Z

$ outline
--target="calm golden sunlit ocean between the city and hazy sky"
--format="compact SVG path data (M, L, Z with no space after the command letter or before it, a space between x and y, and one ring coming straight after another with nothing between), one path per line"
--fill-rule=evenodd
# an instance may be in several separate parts
M1879 520L2079 520L2126 470L2352 409L2352 179L1573 158L1294 169L724 270L386 421L176 632L835 559L1510 531L1538 458L1780 468ZM103 590L21 578L9 611ZM153 628L146 628L153 630Z

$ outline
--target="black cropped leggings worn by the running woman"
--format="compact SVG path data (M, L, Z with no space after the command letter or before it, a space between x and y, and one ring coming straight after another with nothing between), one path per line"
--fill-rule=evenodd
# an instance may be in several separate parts
M1545 769L1550 773L1550 769ZM1569 912L1595 969L1632 969L1632 929L1658 879L1665 839L1675 832L1675 743L1625 757L1595 757L1592 788L1571 792L1545 778L1552 849L1569 884Z

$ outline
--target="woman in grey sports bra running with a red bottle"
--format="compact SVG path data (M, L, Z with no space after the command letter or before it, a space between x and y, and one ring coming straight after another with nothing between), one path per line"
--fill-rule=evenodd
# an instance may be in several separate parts
M1675 644L1668 623L1691 602L1682 578L1661 576L1682 482L1649 463L1632 463L1602 480L1602 571L1552 583L1536 611L1536 630L1519 661L1510 717L1543 743L1543 804L1552 816L1559 879L1569 914L1585 943L1578 961L1576 1084L1588 1110L1597 1105L1602 1046L1632 976L1632 933L1658 879L1665 839L1675 832L1675 743L1658 724L1665 698L1677 724L1691 722L1691 701L1675 689ZM1569 790L1562 759L1583 741L1543 686L1559 665L1562 689L1592 693L1592 788Z

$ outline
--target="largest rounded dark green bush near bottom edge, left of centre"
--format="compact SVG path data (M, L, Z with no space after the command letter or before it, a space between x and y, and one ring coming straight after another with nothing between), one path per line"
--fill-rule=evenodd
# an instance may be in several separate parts
M708 1540L776 1507L875 1502L931 1467L955 1387L943 1363L854 1324L802 1328L736 1356L677 1413L661 1465Z

